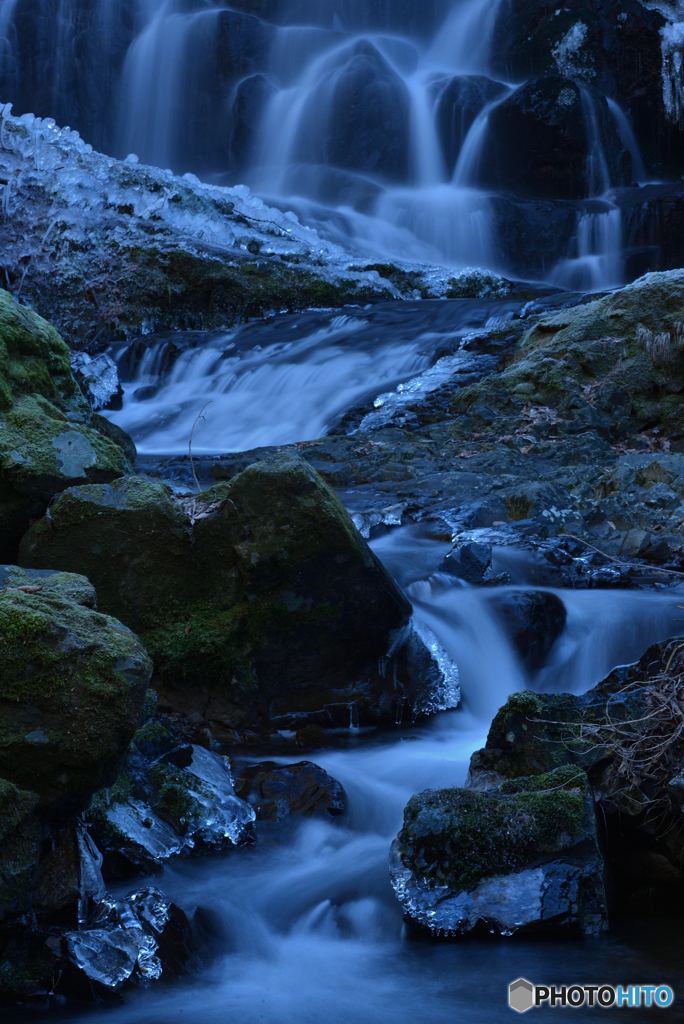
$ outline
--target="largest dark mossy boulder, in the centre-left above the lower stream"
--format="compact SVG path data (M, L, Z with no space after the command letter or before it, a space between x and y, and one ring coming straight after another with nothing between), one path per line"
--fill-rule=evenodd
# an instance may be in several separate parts
M377 663L410 605L299 455L195 501L142 477L73 487L51 515L51 530L41 521L25 537L22 563L88 577L153 656L162 705L231 728L330 709L348 724L350 703L373 715L393 690Z

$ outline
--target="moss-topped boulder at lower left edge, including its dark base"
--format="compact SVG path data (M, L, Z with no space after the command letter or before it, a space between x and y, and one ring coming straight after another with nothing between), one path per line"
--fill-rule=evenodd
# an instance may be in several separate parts
M44 994L57 978L82 994L53 955L60 931L86 924L104 896L78 816L117 779L151 673L83 577L0 565L0 1000Z

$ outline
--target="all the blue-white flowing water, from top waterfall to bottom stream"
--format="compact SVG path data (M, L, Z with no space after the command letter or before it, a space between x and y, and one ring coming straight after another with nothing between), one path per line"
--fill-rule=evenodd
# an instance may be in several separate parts
M4 0L3 98L23 97L37 112L42 103L40 113L62 124L81 110L81 130L120 157L134 152L214 181L246 181L352 254L506 271L496 189L482 183L493 115L520 84L493 71L505 0L256 6L268 16L213 0L34 0L29 22L41 77L22 63L27 4ZM233 45L242 63L224 81L221 54ZM583 87L591 204L578 206L571 244L547 267L562 287L623 281L603 99ZM605 109L634 176L646 181L627 115L613 100ZM185 452L209 400L196 453L318 437L350 407L398 390L440 357L456 360L452 370L461 360L464 371L485 372L488 365L462 340L515 306L317 310L209 338L122 345L114 354L124 403L109 415L147 455ZM519 976L627 984L681 975L681 937L655 926L573 942L410 940L388 876L407 801L424 788L463 783L471 753L508 694L586 691L650 643L680 633L681 597L558 591L565 628L529 676L487 594L437 572L443 542L398 527L374 547L458 665L461 707L394 732L350 729L339 746L307 754L343 784L348 812L341 820L264 829L254 850L167 868L160 886L187 911L202 906L213 916L214 956L173 987L135 993L112 1009L112 1024L483 1024L509 1019L507 988ZM529 585L522 555L516 564L519 589ZM287 760L300 756L293 751ZM589 1013L574 1011L576 1019ZM540 1020L553 1014L536 1011ZM623 1019L621 1010L600 1015Z

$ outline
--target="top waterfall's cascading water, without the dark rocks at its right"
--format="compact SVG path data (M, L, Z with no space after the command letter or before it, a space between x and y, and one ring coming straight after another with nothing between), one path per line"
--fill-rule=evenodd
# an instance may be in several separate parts
M244 181L361 258L515 266L528 276L557 264L559 284L622 281L615 207L605 225L603 214L579 209L574 239L559 237L549 259L535 251L527 201L515 207L521 251L501 223L501 197L482 185L494 159L489 115L520 85L491 71L509 9L502 0L427 0L420 13L410 4L272 0L259 17L243 0L60 0L56 14L32 2L33 22L29 0L0 9L0 90L15 108L76 124L96 146ZM572 61L564 74L579 74ZM605 153L611 131L610 145L622 144L645 180L627 115L579 82L585 198L619 183Z

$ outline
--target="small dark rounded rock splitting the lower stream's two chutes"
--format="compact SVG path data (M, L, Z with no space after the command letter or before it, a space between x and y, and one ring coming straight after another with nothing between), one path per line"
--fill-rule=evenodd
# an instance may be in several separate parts
M489 600L523 665L540 669L565 626L565 605L549 591L509 591Z

